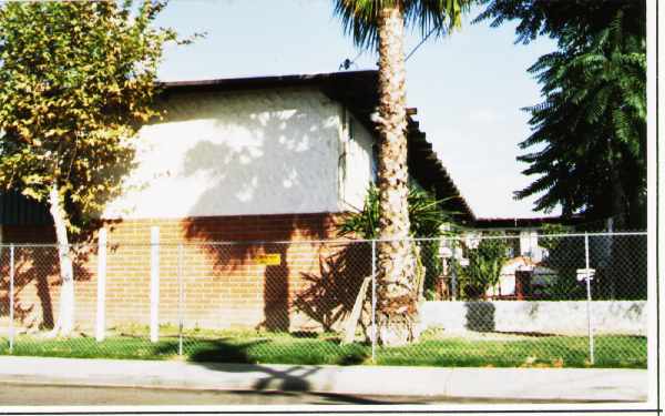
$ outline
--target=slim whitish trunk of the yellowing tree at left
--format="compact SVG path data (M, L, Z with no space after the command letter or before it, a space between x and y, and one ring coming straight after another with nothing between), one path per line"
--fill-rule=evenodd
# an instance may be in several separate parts
M55 239L58 241L58 260L60 262L60 311L51 336L69 336L74 328L74 270L72 265L71 248L66 235L65 213L58 185L53 184L49 194L51 216L55 226Z

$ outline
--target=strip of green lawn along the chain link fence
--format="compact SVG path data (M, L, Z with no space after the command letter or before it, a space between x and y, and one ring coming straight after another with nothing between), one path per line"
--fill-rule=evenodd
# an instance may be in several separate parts
M21 335L13 355L178 359L178 339L163 331L152 344L147 332L117 333L102 343L91 337L44 339ZM407 347L377 348L377 365L452 367L589 367L589 339L571 336L533 336L507 339L442 338L426 334ZM192 362L273 364L371 364L366 344L339 345L335 334L270 334L256 332L190 332L183 342L184 358ZM0 355L9 354L0 338ZM595 337L594 367L646 368L646 338L604 335Z

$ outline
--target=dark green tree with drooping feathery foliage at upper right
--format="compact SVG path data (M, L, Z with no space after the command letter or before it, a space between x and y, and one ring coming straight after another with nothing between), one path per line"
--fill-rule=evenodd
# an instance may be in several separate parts
M492 0L475 20L518 19L518 41L538 35L559 50L529 69L543 102L525 109L532 134L518 158L539 175L518 199L535 209L614 217L617 229L643 229L646 203L646 30L641 1Z

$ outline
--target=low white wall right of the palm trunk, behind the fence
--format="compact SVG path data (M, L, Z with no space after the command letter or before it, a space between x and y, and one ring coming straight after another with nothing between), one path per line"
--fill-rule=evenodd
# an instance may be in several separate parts
M646 335L645 301L593 301L596 334ZM498 331L586 335L585 301L426 302L424 327L444 331Z

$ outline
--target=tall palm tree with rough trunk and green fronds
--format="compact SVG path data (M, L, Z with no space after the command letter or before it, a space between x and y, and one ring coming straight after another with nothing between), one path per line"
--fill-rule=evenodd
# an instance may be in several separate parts
M403 38L407 27L423 33L461 24L471 0L335 0L335 13L360 48L379 53L379 239L377 324L383 345L418 338L416 261L408 241L407 108Z

